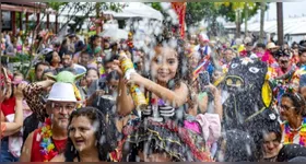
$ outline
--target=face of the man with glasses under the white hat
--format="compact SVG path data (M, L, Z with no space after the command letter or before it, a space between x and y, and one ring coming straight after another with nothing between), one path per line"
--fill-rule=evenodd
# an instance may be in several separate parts
M52 125L60 129L67 129L71 113L75 109L73 102L48 102L47 112L51 116Z

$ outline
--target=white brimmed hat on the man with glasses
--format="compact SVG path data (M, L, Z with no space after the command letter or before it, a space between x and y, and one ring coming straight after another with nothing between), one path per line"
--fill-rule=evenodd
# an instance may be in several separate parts
M55 83L47 101L76 102L72 84L62 82Z

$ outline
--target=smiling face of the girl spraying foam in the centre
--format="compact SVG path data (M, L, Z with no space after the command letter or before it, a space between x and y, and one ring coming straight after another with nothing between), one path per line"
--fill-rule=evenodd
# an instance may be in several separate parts
M151 62L152 75L163 83L174 79L178 68L177 52L172 48L156 49L156 55Z

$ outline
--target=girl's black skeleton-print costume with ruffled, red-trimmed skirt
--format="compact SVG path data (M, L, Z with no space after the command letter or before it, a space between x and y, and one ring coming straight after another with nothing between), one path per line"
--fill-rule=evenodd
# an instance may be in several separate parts
M129 121L123 128L125 143L133 148L131 151L153 143L173 161L210 162L201 127L197 121L186 120L183 116L183 107L174 108L163 99L153 98L151 105L142 112L142 117Z

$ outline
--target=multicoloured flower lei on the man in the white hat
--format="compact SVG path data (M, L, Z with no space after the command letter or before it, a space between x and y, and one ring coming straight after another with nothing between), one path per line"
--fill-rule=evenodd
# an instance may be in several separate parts
M51 130L51 120L49 118L46 119L44 126L42 127L40 136L43 137L40 141L40 154L44 157L44 162L49 162L54 159L58 152L56 151L56 147L52 142L52 130Z

